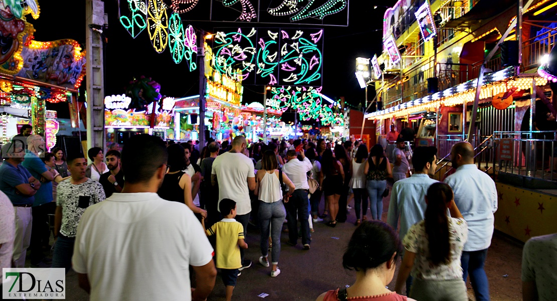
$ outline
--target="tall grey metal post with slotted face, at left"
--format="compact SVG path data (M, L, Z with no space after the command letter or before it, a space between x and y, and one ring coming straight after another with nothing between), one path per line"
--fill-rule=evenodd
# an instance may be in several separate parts
M94 31L104 25L104 2L86 0L85 46L87 82L87 149L105 149L104 122L104 62L102 60L102 37ZM87 151L87 150L85 150Z

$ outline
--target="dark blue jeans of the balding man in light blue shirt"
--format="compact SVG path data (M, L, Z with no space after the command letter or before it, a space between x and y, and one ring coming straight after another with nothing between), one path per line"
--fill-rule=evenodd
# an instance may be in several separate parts
M474 289L474 295L477 301L490 300L487 275L485 270L483 270L486 256L487 249L462 251L461 264L462 270L464 271L462 278L466 282L468 273L470 273L470 282L472 282L472 288Z

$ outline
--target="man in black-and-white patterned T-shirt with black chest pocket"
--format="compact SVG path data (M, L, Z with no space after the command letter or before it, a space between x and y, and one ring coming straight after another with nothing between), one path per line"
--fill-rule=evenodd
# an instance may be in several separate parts
M60 182L57 187L56 213L54 217L54 253L52 268L71 269L75 236L81 215L90 205L105 199L102 185L85 176L87 160L81 154L67 160L71 178Z

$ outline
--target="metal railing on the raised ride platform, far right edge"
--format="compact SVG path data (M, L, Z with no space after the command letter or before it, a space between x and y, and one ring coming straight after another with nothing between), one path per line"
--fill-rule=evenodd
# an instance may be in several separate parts
M557 131L496 131L495 170L557 180Z

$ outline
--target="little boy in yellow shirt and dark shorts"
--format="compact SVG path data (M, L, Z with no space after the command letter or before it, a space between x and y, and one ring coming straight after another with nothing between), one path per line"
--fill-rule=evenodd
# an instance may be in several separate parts
M230 301L236 286L236 279L240 275L238 269L242 267L240 248L247 249L247 243L244 241L242 224L234 219L236 202L231 199L222 199L219 209L224 218L207 229L206 234L207 236L217 236L217 268L221 269L222 281L226 287L226 300ZM205 229L204 219L201 224Z

